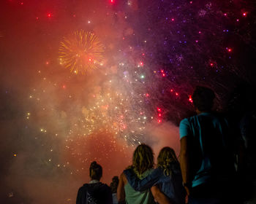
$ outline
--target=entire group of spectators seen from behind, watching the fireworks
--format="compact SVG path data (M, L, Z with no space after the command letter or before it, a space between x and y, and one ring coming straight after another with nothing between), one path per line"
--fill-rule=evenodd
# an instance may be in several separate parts
M214 91L196 87L196 114L179 125L179 160L165 146L154 165L153 150L140 144L132 165L110 187L99 181L102 167L91 162L91 181L80 187L76 203L256 203L254 94L252 87L238 88L227 111L217 113Z

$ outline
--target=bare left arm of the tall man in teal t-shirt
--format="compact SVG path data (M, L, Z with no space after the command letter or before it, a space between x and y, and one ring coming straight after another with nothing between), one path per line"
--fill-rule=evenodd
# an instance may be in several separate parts
M184 183L184 187L189 195L189 187L191 185L192 179L190 178L190 158L189 158L190 146L189 146L189 138L184 136L181 138L181 173L182 179Z

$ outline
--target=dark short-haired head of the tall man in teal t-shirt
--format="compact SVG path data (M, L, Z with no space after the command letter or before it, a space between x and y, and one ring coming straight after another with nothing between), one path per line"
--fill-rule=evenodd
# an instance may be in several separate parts
M198 86L192 95L193 104L198 111L211 111L214 98L214 91L208 87Z

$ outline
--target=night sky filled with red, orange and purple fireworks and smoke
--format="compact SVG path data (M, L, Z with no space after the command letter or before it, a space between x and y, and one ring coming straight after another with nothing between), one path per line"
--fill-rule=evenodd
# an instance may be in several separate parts
M192 91L255 86L255 1L1 0L1 203L75 203L138 144L179 151Z

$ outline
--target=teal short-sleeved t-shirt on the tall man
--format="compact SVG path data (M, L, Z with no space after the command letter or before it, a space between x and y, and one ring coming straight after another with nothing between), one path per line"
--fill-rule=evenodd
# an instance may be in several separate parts
M222 182L233 174L233 138L225 117L201 113L183 119L179 130L180 138L189 137L192 146L192 187L208 181Z

